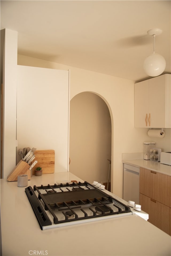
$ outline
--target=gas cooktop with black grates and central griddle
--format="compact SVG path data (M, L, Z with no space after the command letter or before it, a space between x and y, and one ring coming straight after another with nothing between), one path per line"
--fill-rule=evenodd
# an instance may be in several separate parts
M134 214L110 192L108 195L87 181L34 185L25 192L41 230Z

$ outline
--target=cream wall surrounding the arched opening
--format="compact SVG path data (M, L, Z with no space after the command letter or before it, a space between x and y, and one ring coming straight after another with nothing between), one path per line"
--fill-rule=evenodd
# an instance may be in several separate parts
M70 69L70 99L88 91L96 93L106 102L112 123L111 191L122 197L122 153L143 152L143 142L151 141L147 135L148 129L134 128L134 81L22 55L18 55L18 65ZM167 139L164 143L156 140L156 146L162 145L164 150L170 141L170 129L165 134Z

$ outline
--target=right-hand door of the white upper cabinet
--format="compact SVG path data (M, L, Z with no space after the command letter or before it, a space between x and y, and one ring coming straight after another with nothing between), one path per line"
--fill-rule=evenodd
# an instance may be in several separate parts
M150 127L166 127L166 75L149 79Z

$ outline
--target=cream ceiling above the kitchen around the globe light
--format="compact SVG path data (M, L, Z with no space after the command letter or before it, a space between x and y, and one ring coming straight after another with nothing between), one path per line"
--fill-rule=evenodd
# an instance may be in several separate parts
M1 1L1 29L18 31L18 53L135 81L148 78L147 30L171 73L171 1Z

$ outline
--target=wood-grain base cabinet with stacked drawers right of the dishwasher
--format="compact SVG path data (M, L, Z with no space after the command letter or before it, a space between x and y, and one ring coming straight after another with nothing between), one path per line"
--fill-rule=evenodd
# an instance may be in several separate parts
M171 235L171 177L140 168L139 204L149 214L149 222Z

